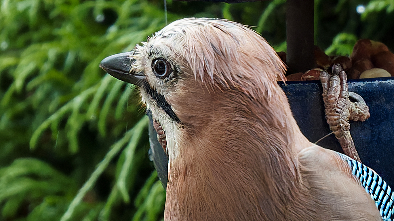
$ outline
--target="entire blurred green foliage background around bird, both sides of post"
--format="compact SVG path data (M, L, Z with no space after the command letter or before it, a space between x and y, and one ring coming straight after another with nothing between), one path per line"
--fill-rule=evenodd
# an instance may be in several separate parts
M163 219L145 107L134 86L99 63L146 41L166 19L227 18L286 52L285 1L0 4L2 220ZM393 51L393 8L393 1L315 1L315 44L350 55L367 38Z

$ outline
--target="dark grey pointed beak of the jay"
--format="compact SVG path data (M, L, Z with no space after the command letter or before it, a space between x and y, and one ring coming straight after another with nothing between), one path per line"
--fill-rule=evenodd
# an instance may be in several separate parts
M131 56L133 53L125 52L106 57L100 62L100 68L121 81L142 86L145 76L142 72L135 73L132 71L133 59Z

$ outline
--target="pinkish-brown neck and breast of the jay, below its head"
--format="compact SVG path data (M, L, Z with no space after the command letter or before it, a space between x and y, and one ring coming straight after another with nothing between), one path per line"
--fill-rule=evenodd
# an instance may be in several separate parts
M188 112L194 126L186 125L169 160L165 219L286 217L299 192L296 155L311 144L280 92L257 102L210 94L210 114Z

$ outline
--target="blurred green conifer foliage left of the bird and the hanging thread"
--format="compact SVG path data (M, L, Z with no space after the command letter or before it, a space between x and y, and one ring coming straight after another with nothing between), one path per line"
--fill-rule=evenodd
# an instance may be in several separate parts
M127 215L153 169L147 118L98 64L164 26L162 2L1 2L2 219Z

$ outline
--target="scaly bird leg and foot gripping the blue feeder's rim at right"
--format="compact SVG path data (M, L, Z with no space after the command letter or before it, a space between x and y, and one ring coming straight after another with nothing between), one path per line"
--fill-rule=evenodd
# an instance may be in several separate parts
M348 92L347 76L340 64L334 64L332 74L323 70L320 73L323 86L325 118L334 131L344 153L361 162L350 135L349 120L365 121L370 117L369 108L364 99L354 92ZM351 102L350 99L355 100Z

